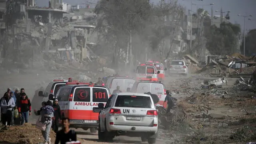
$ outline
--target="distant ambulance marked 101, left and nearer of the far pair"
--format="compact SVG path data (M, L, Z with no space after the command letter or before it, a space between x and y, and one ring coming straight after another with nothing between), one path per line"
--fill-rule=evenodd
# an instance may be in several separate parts
M136 80L153 80L158 81L158 76L160 71L156 70L155 66L148 66L146 64L140 64L136 69Z

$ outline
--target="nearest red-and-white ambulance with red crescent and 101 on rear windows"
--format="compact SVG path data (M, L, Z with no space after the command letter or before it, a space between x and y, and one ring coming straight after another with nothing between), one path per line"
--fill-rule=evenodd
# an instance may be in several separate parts
M55 98L62 112L62 116L70 119L71 128L82 128L96 132L99 113L94 109L98 103L108 101L110 92L105 86L84 82L67 82L61 86Z

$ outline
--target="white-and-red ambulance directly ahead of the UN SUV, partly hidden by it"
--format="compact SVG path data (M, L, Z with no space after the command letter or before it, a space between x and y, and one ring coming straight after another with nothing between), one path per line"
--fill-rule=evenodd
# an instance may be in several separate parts
M164 83L160 81L140 80L139 82L135 82L133 84L131 91L137 93L150 92L151 94L156 94L159 98L159 102L156 104L160 104L166 108L166 103L164 104L166 88Z

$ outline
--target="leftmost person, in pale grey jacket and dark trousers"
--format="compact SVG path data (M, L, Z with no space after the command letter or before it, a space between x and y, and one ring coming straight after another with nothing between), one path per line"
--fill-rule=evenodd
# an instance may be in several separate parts
M14 99L11 98L10 93L6 93L4 98L2 98L0 106L2 107L2 124L6 125L11 125L12 121L12 111L13 108L15 107L15 102Z

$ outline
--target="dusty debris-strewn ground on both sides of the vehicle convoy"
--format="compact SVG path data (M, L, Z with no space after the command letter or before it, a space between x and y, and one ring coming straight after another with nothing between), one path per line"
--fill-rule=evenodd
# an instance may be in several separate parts
M1 73L1 72L0 72ZM33 97L37 96L36 90L41 86L47 86L49 80L55 76L72 76L72 73L56 73L56 72L38 72L32 70L27 74L0 74L2 94L8 87L25 88L29 98L33 101ZM200 85L203 80L214 80L210 76L202 76L191 74L190 76L168 76L164 83L166 89L173 92L173 96L178 99L180 105L186 113L186 122L183 125L173 126L169 130L159 129L158 140L156 144L176 144L176 143L240 143L248 142L249 138L233 138L232 134L236 134L239 128L251 127L256 121L252 120L256 107L253 100L244 98L248 92L241 93L234 89L236 78L228 78L228 84L223 84L222 88L211 90L202 90ZM225 93L226 92L226 93ZM195 102L192 103L191 97L194 93L198 93ZM253 94L252 94L253 95ZM254 94L255 95L255 94ZM242 96L242 98L241 98ZM243 100L239 100L243 99ZM36 103L34 99L34 103ZM39 105L40 100L37 102ZM192 103L192 104L191 104ZM202 107L206 107L207 110ZM245 110L250 113L247 113ZM207 117L202 117L204 111L207 111ZM209 117L209 115L211 117ZM255 119L255 118L254 118ZM243 120L243 121L242 121ZM34 124L36 119L30 116L30 123ZM243 123L242 123L243 122ZM179 122L181 123L181 122ZM255 127L255 126L254 126ZM82 129L76 129L78 138L83 139L84 144L104 144L106 142L98 142L97 133L92 134ZM248 135L248 133L246 133ZM220 139L218 139L221 137ZM236 136L238 137L238 136ZM256 141L256 140L255 140ZM114 138L114 143L118 144L146 144L141 142L140 138L129 138L119 136ZM198 144L199 144L198 143Z

